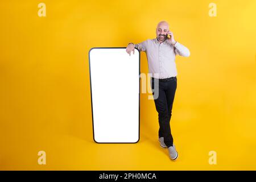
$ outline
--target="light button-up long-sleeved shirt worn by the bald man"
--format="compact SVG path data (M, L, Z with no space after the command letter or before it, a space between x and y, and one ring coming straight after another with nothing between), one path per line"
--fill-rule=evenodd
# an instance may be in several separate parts
M161 79L177 76L175 63L177 54L185 57L190 55L189 49L179 42L172 46L167 40L160 43L157 38L135 44L135 48L146 52L148 72L152 74L152 77ZM155 75L155 73L158 74Z

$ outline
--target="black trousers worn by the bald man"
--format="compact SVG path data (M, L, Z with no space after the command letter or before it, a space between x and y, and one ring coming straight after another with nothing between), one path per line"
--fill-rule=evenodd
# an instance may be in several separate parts
M156 79L151 77L151 80L152 94L156 110L158 111L158 135L159 137L163 137L166 146L170 147L174 143L171 134L170 120L172 116L172 104L174 103L174 96L177 88L177 78ZM158 94L156 94L157 88L155 89L155 85L157 85L156 81L158 81L159 85Z

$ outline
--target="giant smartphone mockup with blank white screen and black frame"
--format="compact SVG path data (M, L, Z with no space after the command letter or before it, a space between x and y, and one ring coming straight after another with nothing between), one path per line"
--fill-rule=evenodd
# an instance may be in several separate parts
M94 140L138 142L139 51L93 48L89 60Z

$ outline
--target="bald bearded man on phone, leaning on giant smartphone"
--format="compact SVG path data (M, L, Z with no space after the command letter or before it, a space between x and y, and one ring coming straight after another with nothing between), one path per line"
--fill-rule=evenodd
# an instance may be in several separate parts
M167 38L170 35L171 38ZM177 159L178 153L171 134L170 120L172 115L172 104L177 88L177 70L175 56L190 55L189 49L174 39L174 34L169 30L169 24L161 21L156 27L156 38L147 39L142 43L129 43L126 52L131 55L134 48L146 52L148 61L148 72L152 74L151 89L154 97L156 111L158 111L160 146L168 148L172 160ZM155 96L154 85L159 84L158 96Z

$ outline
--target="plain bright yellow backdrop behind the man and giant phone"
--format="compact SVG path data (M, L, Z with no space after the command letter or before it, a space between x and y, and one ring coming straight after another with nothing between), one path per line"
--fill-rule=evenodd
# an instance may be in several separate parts
M0 2L0 169L256 169L256 1L42 1L39 17L40 2ZM138 143L93 141L89 49L155 38L160 20L191 51L176 57L176 162L159 146L148 94Z

